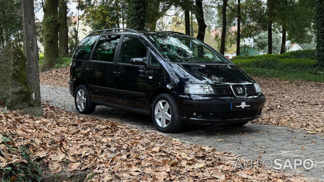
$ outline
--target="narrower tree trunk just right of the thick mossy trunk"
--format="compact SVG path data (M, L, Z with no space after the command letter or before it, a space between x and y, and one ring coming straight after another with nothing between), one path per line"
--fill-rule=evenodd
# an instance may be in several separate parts
M69 53L69 30L67 27L67 0L60 0L59 4L59 54Z

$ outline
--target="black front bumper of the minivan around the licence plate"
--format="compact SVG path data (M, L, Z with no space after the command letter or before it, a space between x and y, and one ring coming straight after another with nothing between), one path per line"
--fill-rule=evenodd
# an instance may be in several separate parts
M248 97L206 97L198 95L177 95L176 101L180 118L195 123L239 123L251 121L261 116L265 104L262 93ZM254 108L231 110L231 102L254 101ZM196 115L193 113L196 112Z

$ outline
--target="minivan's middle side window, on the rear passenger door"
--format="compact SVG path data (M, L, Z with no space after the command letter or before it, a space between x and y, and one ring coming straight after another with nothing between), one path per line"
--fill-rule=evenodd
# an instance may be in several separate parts
M92 60L114 62L114 56L121 36L101 36L93 52Z

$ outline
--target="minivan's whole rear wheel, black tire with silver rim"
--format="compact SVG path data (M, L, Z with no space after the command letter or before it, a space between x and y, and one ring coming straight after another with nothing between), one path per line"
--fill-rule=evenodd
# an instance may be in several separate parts
M80 94L81 97L78 97ZM81 98L85 99L86 102ZM79 102L81 100L82 103ZM96 105L91 102L90 91L85 84L81 84L75 89L74 103L76 110L81 114L91 114L96 109Z

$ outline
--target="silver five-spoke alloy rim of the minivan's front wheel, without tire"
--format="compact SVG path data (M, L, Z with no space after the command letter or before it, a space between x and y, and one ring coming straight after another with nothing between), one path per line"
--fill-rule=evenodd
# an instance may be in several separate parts
M167 101L160 100L155 105L154 116L156 123L165 128L171 121L171 108Z

